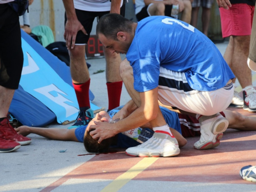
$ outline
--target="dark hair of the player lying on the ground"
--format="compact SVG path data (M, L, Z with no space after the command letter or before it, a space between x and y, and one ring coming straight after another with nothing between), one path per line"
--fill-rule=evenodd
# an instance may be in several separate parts
M90 130L84 133L83 145L86 148L86 151L89 153L105 153L109 151L112 138L104 139L101 143L98 143L98 139L93 139L90 135Z

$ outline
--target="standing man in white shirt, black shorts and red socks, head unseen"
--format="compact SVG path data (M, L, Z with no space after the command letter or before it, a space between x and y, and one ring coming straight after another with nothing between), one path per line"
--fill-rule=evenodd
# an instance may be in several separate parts
M95 17L107 13L118 13L124 16L125 0L62 0L65 6L64 38L70 53L70 71L76 92L80 113L75 124L69 129L87 125L93 118L90 109L89 88L90 74L86 65L86 44ZM119 106L122 79L119 74L120 55L103 49L106 59L106 86L109 96L109 110Z

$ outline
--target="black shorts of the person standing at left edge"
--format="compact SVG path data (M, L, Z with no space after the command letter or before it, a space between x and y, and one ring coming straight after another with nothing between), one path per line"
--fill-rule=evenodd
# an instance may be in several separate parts
M18 89L23 68L22 38L18 14L0 4L0 86Z

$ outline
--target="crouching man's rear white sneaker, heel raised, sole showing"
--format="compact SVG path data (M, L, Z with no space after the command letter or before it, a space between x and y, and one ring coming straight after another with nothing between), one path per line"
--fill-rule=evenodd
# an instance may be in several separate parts
M194 143L194 148L198 150L208 150L219 146L223 132L226 131L228 120L220 113L199 118L201 127L200 140Z

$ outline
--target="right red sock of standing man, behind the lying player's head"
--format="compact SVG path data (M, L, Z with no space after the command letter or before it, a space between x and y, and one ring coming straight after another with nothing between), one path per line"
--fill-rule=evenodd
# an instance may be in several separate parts
M109 96L109 110L113 110L120 105L120 97L122 92L123 81L107 82Z

